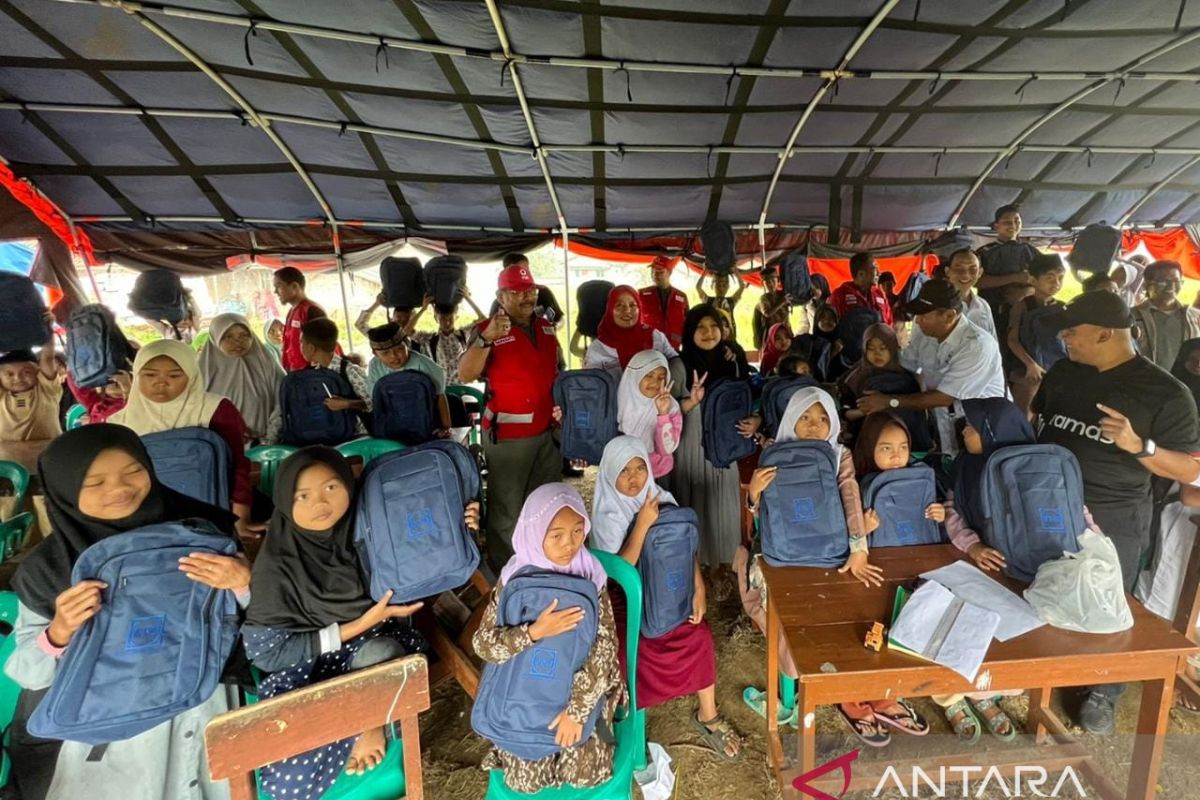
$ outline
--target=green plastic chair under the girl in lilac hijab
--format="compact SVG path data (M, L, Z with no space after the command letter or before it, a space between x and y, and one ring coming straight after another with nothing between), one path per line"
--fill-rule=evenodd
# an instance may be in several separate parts
M629 615L625 619L625 648L629 708L625 716L616 721L617 751L613 753L612 778L607 783L587 789L562 786L542 789L534 794L514 792L504 782L503 770L492 770L487 781L487 800L628 800L634 796L634 772L646 769L646 711L637 708L637 637L642 627L642 579L637 570L625 559L613 553L592 551L600 559L605 572L625 593ZM617 710L620 717L622 709Z

